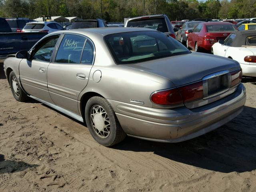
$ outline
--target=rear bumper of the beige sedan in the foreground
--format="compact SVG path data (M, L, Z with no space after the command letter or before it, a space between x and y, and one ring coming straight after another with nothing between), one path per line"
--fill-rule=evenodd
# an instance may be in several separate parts
M233 94L195 109L155 109L109 100L124 131L159 142L181 142L226 124L243 110L246 93L240 84Z

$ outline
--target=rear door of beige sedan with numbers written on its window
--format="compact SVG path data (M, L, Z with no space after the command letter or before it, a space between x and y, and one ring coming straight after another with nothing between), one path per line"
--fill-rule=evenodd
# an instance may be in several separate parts
M94 53L92 41L85 36L63 36L47 72L48 90L54 104L79 114L78 95L88 83Z

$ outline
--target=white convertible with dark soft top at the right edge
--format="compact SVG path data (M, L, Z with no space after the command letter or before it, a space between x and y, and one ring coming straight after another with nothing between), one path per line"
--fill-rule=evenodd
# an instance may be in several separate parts
M212 46L212 54L240 63L244 76L256 77L256 31L238 31Z

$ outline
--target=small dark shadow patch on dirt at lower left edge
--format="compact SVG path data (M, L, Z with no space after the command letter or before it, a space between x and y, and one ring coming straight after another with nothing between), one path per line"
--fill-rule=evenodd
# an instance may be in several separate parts
M23 161L5 160L4 155L0 154L0 174L19 172L27 168L33 168L37 166L38 165L28 164Z

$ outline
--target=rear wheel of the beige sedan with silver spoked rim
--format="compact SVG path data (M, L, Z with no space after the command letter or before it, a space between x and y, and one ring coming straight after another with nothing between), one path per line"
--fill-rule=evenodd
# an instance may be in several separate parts
M112 106L105 98L94 96L88 100L85 119L90 134L103 146L113 146L126 137Z

